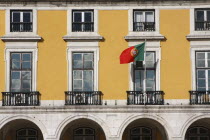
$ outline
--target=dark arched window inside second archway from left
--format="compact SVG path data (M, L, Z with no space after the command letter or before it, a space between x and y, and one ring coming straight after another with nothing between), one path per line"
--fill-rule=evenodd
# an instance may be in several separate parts
M92 128L77 128L74 130L74 140L95 140L95 130Z

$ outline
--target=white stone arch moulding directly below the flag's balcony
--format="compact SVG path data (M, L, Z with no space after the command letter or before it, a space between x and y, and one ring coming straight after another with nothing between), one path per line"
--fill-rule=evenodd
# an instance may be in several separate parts
M157 123L159 123L163 128L164 128L164 132L166 134L167 140L170 140L171 137L173 136L173 131L171 129L171 127L168 125L168 123L161 117L157 116L157 115L147 115L147 114L141 114L141 115L131 115L128 118L126 118L123 123L121 124L118 132L117 132L117 136L122 139L123 138L123 133L125 131L125 129L127 128L127 126L129 124L131 124L133 121L136 121L138 119L150 119L153 121L156 121Z

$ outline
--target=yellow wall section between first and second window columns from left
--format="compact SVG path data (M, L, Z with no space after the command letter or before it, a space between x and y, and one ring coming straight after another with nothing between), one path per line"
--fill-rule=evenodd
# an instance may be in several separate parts
M67 11L38 11L37 89L42 100L64 100L67 90L66 42Z

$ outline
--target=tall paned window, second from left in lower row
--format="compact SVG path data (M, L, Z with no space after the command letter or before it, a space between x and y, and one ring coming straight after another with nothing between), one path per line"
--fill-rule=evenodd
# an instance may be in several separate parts
M93 52L73 52L72 56L73 91L94 91Z

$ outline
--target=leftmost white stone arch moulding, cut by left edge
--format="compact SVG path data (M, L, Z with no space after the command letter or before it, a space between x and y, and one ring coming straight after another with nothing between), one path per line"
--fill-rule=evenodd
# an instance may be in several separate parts
M35 117L30 117L30 116L25 116L25 115L9 116L9 117L6 117L6 118L2 119L0 121L0 130L6 124L8 124L8 123L10 123L11 121L14 121L14 120L27 120L27 121L30 121L30 122L34 123L35 125L37 125L37 127L42 132L43 139L45 140L47 138L48 133L47 133L47 129L44 126L44 124L41 121L37 120Z

